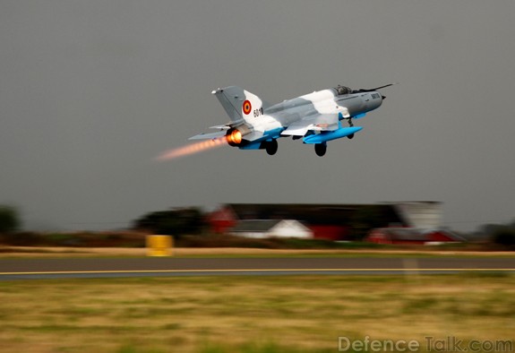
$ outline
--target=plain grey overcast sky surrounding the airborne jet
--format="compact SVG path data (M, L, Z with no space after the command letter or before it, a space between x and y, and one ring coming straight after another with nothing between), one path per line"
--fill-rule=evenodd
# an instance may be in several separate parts
M26 228L127 226L219 202L444 202L452 228L515 217L515 2L0 2L0 203ZM383 90L352 141L160 152L228 121L210 91L279 102Z

